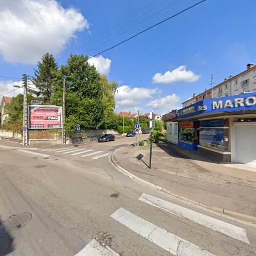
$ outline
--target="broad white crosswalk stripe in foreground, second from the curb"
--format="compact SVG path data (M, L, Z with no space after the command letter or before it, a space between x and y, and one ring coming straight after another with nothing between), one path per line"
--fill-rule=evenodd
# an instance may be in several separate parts
M111 217L174 255L214 255L123 208L119 208Z

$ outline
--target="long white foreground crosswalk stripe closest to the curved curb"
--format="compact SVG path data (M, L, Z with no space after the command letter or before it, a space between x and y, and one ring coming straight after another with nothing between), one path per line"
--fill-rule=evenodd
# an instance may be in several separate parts
M246 244L250 244L246 235L246 229L244 228L237 227L235 225L209 217L204 214L200 214L200 212L187 209L183 206L162 200L157 197L153 197L151 195L147 195L145 193L142 194L139 200L155 207L161 208L165 211L171 212L172 214L186 218L190 221L196 222L212 230L226 234L226 236L228 237L237 239Z

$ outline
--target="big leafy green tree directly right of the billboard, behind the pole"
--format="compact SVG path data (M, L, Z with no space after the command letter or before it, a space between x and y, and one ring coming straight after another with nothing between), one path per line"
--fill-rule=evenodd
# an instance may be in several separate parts
M63 77L66 77L66 131L71 134L76 124L81 129L98 129L103 125L103 86L100 74L89 65L88 56L70 55L54 79L51 103L62 104ZM73 89L68 90L73 87Z

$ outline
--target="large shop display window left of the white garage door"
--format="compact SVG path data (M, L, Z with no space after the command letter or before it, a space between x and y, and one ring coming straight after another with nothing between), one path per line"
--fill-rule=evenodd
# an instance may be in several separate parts
M220 151L229 151L228 119L200 121L199 144Z

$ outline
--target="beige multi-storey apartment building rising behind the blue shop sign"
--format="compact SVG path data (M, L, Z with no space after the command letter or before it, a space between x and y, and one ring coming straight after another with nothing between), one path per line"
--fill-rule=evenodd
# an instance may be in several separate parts
M248 64L246 70L236 76L229 76L212 89L208 89L182 103L183 108L200 100L227 97L242 93L256 92L256 66Z

